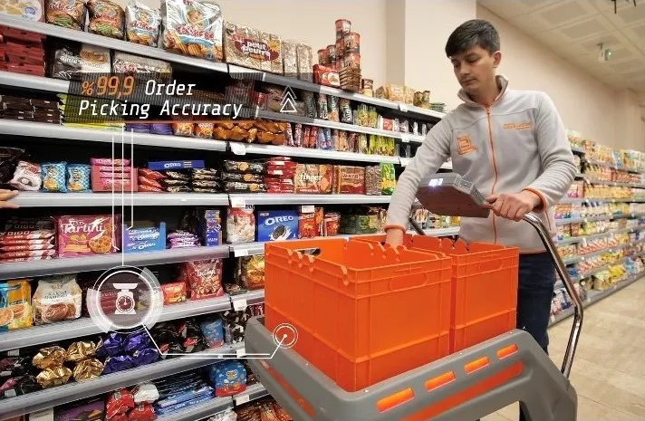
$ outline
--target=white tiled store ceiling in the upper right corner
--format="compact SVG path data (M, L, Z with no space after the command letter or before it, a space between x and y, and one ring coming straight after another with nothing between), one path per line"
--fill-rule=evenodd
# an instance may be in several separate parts
M645 0L477 0L611 87L645 100ZM599 62L598 43L611 49Z

